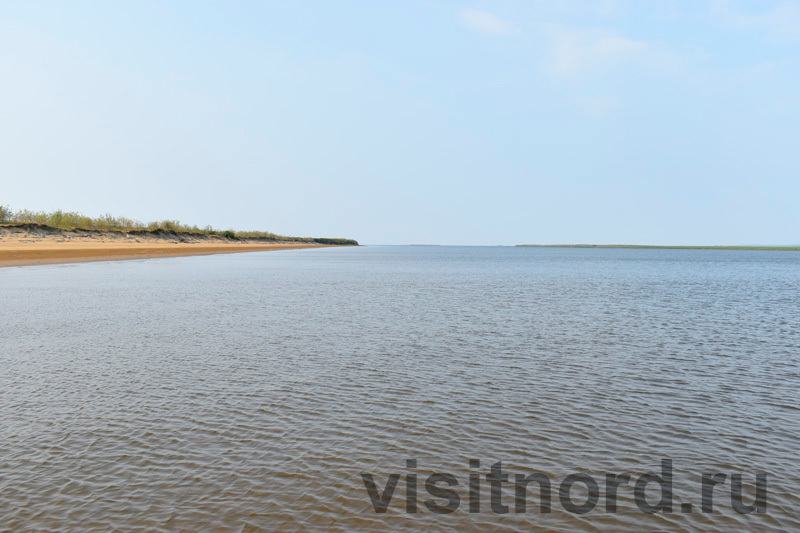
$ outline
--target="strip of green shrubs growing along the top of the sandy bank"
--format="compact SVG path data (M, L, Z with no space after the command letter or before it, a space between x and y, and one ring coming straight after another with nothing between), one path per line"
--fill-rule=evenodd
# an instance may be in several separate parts
M162 220L144 223L126 217L115 217L109 214L92 218L75 212L57 211L14 211L8 206L0 205L0 224L38 224L62 231L111 231L111 232L171 232L184 235L204 235L230 240L258 239L262 241L313 242L317 244L358 245L353 239L327 237L289 237L267 231L234 231L218 230L211 226L200 228L181 224L177 220Z

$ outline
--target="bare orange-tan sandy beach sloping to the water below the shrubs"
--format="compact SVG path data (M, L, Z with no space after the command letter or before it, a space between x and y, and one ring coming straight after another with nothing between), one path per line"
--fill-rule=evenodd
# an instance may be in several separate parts
M0 226L0 267L230 254L332 246L315 242L228 239L156 231L65 231L50 226Z

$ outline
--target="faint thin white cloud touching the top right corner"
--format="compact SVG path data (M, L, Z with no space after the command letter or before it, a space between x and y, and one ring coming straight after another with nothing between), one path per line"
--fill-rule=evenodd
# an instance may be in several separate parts
M713 0L711 15L726 26L763 31L776 40L800 40L798 2L781 2L768 11L744 13L731 0Z

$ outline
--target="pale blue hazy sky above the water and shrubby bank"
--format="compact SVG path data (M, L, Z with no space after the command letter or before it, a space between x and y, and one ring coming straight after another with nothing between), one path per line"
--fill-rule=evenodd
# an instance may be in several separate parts
M800 243L800 1L0 3L0 204L366 244Z

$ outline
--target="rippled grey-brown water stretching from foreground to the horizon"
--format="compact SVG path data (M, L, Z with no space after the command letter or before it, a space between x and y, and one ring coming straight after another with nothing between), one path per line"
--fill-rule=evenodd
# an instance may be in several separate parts
M0 302L0 530L800 530L800 253L295 250L0 269ZM662 459L672 513L605 511ZM482 480L469 513L496 461L552 512ZM701 513L705 472L767 473L766 513ZM361 473L402 474L385 514Z

